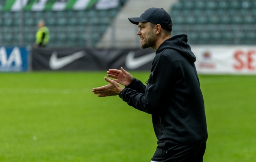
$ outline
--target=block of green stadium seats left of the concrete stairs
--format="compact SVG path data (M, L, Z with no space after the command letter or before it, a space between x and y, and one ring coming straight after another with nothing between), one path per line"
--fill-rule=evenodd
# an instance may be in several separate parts
M2 2L4 1L0 1L0 5L2 5ZM63 43L63 45L69 45L69 47L70 45L74 45L74 47L84 47L86 44L95 46L125 2L126 0L120 0L120 5L117 6L117 8L107 10L95 10L93 9L94 6L91 9L81 11L47 10L35 12L26 9L23 12L24 30L22 32L24 35L24 43L31 45L31 43L33 44L35 42L37 23L39 20L43 19L50 30L51 39L49 43L51 45L49 47L55 47L55 45L60 47L61 43ZM49 6L47 6L47 8L49 8ZM20 16L20 12L0 11L0 28L8 29L8 32L4 32L4 30L1 32L3 33L1 35L2 38L7 42L6 44L15 45L17 38L14 35L19 35L17 33L20 32L17 32L17 29L20 29L19 26L22 23ZM59 26L63 28L58 28ZM90 33L92 31L96 33ZM88 39L92 39L91 43L87 41Z

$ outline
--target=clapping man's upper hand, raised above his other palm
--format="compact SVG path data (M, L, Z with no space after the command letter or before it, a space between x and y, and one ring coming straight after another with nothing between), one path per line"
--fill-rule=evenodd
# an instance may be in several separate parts
M121 67L121 70L109 69L107 71L107 76L111 77L111 78L114 78L112 80L114 80L117 83L120 83L121 85L124 85L124 86L129 85L133 80L132 75L130 75L129 72L124 70L123 67Z

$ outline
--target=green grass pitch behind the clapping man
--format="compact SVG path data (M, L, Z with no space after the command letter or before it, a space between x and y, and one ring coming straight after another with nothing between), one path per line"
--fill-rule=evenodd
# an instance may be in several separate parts
M131 72L145 82L149 72ZM0 74L1 162L150 162L151 116L98 98L106 72ZM256 161L256 76L200 76L208 124L204 162Z

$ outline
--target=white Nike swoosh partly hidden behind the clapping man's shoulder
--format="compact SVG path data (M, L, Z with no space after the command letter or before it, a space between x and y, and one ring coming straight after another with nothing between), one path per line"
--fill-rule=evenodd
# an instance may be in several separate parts
M125 66L126 66L126 68L128 68L130 70L137 69L137 68L147 64L148 62L151 62L152 60L154 60L156 53L150 53L147 55L143 55L139 58L134 58L134 55L135 55L135 52L130 51L128 53L128 55L126 56Z

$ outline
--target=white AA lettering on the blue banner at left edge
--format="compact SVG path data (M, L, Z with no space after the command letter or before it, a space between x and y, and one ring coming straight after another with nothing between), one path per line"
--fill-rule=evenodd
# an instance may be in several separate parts
M0 48L0 71L21 71L22 56L19 47L14 47L9 57L5 47Z

